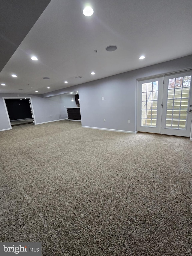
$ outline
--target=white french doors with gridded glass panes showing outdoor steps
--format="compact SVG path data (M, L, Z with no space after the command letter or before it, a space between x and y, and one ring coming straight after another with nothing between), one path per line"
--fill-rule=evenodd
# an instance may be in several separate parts
M190 136L192 71L138 83L137 130Z

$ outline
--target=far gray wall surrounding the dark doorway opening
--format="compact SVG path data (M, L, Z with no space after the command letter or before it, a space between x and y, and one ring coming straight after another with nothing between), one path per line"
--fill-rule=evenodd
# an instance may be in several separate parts
M6 110L3 104L3 97L32 98L32 106L34 110L35 121L37 124L68 118L66 108L77 107L75 101L71 101L71 95L60 95L52 98L42 98L42 95L19 94L19 97L17 97L17 94L1 93L0 131L10 128Z

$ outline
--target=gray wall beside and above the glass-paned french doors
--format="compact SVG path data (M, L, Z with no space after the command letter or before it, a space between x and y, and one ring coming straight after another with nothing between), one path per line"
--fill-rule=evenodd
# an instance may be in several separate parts
M192 55L81 84L78 90L82 125L137 131L137 79L190 68Z

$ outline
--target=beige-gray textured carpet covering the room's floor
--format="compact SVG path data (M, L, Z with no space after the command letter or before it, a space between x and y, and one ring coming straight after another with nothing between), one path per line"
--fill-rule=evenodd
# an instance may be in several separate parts
M189 138L81 128L0 132L0 241L42 255L192 255Z

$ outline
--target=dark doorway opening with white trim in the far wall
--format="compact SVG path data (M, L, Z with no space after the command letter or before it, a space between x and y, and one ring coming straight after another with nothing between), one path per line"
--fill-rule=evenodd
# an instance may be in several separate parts
M17 125L35 124L30 98L4 98L10 128Z

